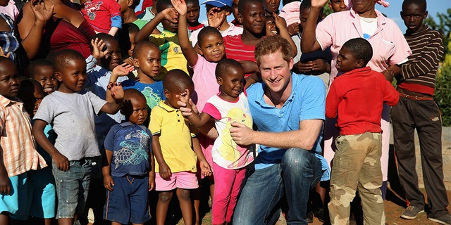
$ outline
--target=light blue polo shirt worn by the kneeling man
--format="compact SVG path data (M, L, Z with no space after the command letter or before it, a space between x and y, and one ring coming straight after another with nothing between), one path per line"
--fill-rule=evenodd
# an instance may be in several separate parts
M292 73L292 93L282 108L278 109L273 105L268 105L264 101L265 84L255 83L247 89L247 99L251 110L254 125L258 131L283 132L299 129L299 122L302 120L324 120L326 89L323 81L318 77L297 75ZM321 180L329 178L328 164L321 156L322 139L320 133L313 151L316 158L321 160L323 173ZM280 163L285 154L285 148L273 148L259 146L259 155L255 160L255 169L263 169L271 165Z

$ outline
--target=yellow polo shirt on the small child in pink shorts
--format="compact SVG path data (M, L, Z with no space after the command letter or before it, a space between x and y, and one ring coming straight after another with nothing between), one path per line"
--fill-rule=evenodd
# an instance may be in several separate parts
M180 110L160 101L152 109L149 129L152 135L160 136L160 146L166 164L171 172L197 172L197 155L192 150L192 138L188 122L185 122ZM155 160L155 172L159 172L159 164Z

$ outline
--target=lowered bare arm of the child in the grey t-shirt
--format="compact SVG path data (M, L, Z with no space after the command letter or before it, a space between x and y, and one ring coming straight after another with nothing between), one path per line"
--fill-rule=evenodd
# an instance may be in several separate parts
M37 143L51 155L51 160L55 162L56 168L66 172L69 169L69 160L50 143L49 139L47 139L47 136L44 134L45 126L47 126L47 122L44 120L35 120L35 123L33 124L33 136L35 136Z

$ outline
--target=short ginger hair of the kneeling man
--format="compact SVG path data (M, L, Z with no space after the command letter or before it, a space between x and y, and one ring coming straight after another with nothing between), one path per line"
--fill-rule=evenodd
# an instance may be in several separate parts
M283 60L290 62L292 56L292 46L287 39L280 37L279 35L269 36L261 40L257 46L255 46L254 56L257 60L257 65L260 65L260 57L266 56L271 53L280 51L282 53Z

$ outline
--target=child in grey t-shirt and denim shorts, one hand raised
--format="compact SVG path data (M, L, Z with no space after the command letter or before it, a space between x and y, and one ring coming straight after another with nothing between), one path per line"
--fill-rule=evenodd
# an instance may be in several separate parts
M86 63L78 51L59 51L54 70L61 85L42 100L35 115L33 134L51 155L58 193L58 224L73 224L74 218L85 208L92 158L100 155L94 115L117 113L123 101L123 89L120 85L109 84L106 96L113 98L109 102L91 91L84 91ZM51 124L58 135L54 146L44 135L47 124Z

